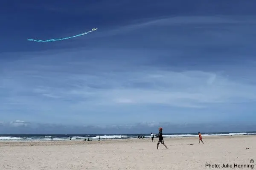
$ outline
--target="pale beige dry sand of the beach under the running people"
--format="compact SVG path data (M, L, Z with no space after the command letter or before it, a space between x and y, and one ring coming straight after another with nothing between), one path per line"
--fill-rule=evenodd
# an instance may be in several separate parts
M165 138L169 150L157 140L0 142L0 170L204 170L252 169L256 136L203 136ZM246 149L249 148L249 149ZM231 164L208 168L205 164ZM253 163L256 168L256 162Z

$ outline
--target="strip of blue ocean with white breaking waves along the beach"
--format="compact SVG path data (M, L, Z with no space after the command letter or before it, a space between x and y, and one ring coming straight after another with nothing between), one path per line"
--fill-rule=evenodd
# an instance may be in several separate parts
M202 133L202 136L231 136L231 135L256 135L256 132L218 132L218 133ZM50 141L52 140L102 140L110 139L136 139L138 136L150 138L150 134L4 134L0 135L0 141ZM197 133L164 133L164 138L190 137L198 136Z

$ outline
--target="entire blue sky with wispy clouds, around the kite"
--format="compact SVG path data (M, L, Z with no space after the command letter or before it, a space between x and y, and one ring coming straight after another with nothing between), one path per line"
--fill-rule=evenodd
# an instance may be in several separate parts
M35 125L104 127L103 133L106 126L137 131L144 125L171 133L194 124L215 131L216 123L248 130L256 124L255 5L1 2L2 133ZM27 41L92 28L98 30L70 40Z

